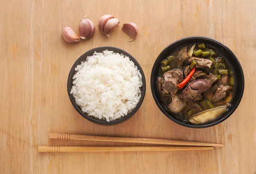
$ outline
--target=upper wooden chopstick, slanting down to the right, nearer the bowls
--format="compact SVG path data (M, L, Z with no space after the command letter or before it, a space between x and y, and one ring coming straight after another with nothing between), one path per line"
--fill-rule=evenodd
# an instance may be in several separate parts
M72 140L86 140L86 141L131 142L131 143L160 144L160 145L223 147L222 144L212 144L212 143L206 143L206 142L190 142L190 141L180 141L180 140L171 140L171 139L72 135L72 134L60 134L60 133L49 133L49 139L72 139Z

